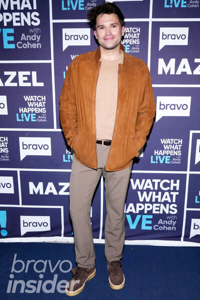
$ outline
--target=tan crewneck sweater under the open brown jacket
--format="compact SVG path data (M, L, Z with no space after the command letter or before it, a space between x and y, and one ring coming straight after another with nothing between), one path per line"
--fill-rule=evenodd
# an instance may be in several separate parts
M117 105L118 64L123 63L123 51L120 50L120 55L114 60L100 58L100 61L95 99L96 139L112 139Z

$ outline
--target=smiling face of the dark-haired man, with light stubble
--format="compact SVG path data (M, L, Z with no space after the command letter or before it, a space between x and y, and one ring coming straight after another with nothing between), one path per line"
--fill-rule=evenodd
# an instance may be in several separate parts
M118 16L115 13L99 14L96 18L96 30L94 35L101 47L107 50L116 48L124 34L124 26L121 27Z

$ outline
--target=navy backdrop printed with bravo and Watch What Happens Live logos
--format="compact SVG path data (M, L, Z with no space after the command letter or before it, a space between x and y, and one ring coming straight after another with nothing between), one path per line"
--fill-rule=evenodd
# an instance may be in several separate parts
M125 16L122 44L147 63L156 101L132 167L125 242L198 245L199 0L114 2ZM100 3L0 0L0 241L73 240L59 95L72 59L97 48L86 14ZM90 212L95 242L104 241L105 214L101 178Z

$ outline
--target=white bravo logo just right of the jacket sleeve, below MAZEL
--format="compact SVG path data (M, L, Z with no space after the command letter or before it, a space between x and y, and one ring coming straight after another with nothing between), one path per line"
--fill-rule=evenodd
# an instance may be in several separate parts
M162 116L189 116L191 97L158 96L156 101L157 122Z

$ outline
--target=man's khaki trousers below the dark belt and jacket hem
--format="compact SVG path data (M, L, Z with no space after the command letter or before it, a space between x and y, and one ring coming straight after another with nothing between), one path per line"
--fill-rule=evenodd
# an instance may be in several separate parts
M97 170L89 168L74 156L72 160L69 199L75 258L78 266L93 267L95 260L90 208L93 193L101 174L105 178L106 219L105 258L107 261L122 257L125 237L124 203L132 165L119 171L105 171L110 146L96 144Z

